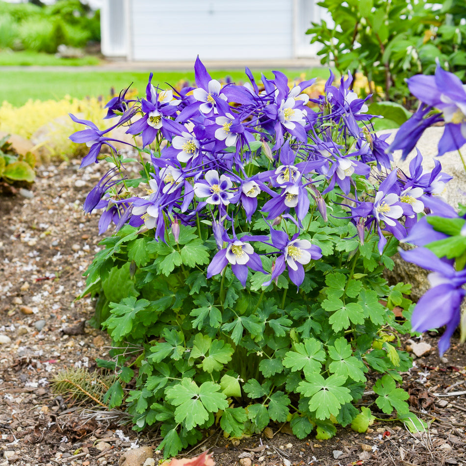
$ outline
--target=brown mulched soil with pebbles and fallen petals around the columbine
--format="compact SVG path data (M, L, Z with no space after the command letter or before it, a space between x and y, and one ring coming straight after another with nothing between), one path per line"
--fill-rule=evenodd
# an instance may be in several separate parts
M124 414L53 389L53 378L65 369L92 373L110 345L105 333L87 324L93 300L75 301L101 240L98 215L84 215L82 204L104 173L100 164L79 171L78 165L39 167L29 190L0 187L0 466L119 465L142 446L153 447L155 463L161 459L156 431L137 434ZM427 433L412 434L375 413L386 420L363 434L338 428L330 440L298 440L287 424L242 440L212 430L182 456L209 450L221 466L465 465L465 347L453 339L440 360L438 337L423 341L432 349L415 359L403 387L411 393L411 409L429 422ZM373 400L368 391L361 404ZM131 465L142 466L144 459Z

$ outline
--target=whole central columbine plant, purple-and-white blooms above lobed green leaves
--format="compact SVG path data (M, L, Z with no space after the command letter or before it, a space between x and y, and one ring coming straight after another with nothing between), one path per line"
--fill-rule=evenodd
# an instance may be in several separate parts
M381 272L419 209L442 208L432 192L447 176L390 167L351 76L310 101L313 80L290 88L274 72L259 87L246 73L221 85L198 59L197 88L163 91L151 75L144 99L108 104L142 137L140 178L108 131L83 122L72 136L91 144L83 165L114 165L85 203L102 209L101 233L115 229L84 291L99 294L94 320L115 343L100 362L119 377L105 401L125 403L136 429L161 424L166 456L215 422L233 437L271 421L300 438L364 431L369 369L383 375L378 407L412 418L395 389L411 362L394 329L409 324L390 312L408 311L409 286Z

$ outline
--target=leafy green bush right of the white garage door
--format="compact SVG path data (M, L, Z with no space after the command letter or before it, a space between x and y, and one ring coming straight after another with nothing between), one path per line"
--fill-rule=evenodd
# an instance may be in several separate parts
M348 69L361 71L375 83L370 92L380 98L408 101L405 78L433 74L436 58L465 78L463 0L329 0L318 4L328 9L337 25L329 28L322 20L321 24L312 23L307 31L312 43L322 44L318 52L321 62L335 63L342 74ZM375 114L383 113L377 110Z

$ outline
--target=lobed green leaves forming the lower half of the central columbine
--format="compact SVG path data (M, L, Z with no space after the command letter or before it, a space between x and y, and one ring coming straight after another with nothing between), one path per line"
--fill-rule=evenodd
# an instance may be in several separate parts
M125 406L137 430L161 423L166 456L198 441L215 419L233 437L286 420L299 438L312 430L330 438L335 422L363 431L370 411L360 413L353 403L368 368L385 374L374 388L380 409L406 413L407 394L394 378L409 360L389 329L407 327L380 301L408 309L410 289L381 282L374 241L357 243L356 255L334 252L351 228L312 223L310 231L326 238L332 266L309 268L292 301L279 286L267 288L267 298L260 287L242 288L228 270L207 281L212 245L194 227L181 226L178 243L172 233L157 243L130 226L105 238L83 295L104 296L104 328L115 347L129 344L110 353L120 376L105 403Z

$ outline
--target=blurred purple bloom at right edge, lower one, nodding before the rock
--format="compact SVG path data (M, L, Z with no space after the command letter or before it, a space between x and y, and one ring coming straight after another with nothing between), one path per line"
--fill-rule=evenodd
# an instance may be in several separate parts
M443 261L425 248L400 250L399 253L404 260L433 271L428 276L432 288L417 302L411 322L416 332L446 325L439 340L441 356L449 348L450 337L460 324L461 302L466 294L462 288L466 284L466 270L456 271L452 261Z

